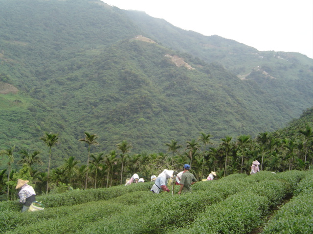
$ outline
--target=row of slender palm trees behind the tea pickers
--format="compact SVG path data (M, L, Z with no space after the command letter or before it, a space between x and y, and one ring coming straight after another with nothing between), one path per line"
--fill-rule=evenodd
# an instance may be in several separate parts
M29 168L37 191L45 191L45 193L53 191L62 184L73 189L121 185L123 178L130 177L134 173L149 180L151 175L158 174L163 169L182 170L184 163L191 165L191 171L198 179L205 178L211 171L216 171L218 177L233 173L249 173L251 163L256 159L261 163L261 170L275 172L306 170L313 164L313 131L309 125L304 129L293 131L291 135L284 132L265 132L260 133L255 139L242 135L236 140L226 136L215 147L211 137L213 136L210 134L201 133L198 139L186 141L185 146L173 139L165 144L169 154L131 154L132 145L125 140L117 144L116 151L112 150L108 154L103 152L90 154L90 147L98 144L96 141L98 137L85 132L85 137L79 141L88 144L87 163L80 165L80 161L76 160L75 156L70 156L64 159L63 166L52 169L50 173L51 148L56 146L59 136L46 132L41 139L49 149L47 173L33 169L33 165L42 164L38 151L30 153L21 150L19 152L21 160L18 163ZM17 173L11 170L14 149L12 146L0 152L9 159L8 168L0 172L2 193L6 193L7 198L10 192L16 193L14 188L10 189L9 186L9 181ZM3 190L5 184L6 192Z

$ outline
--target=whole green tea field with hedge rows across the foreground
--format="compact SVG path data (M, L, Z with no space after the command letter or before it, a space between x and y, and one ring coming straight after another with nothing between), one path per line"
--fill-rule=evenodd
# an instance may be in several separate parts
M192 193L152 182L37 196L44 211L0 202L2 234L312 234L313 171L235 174ZM256 230L258 230L256 232Z

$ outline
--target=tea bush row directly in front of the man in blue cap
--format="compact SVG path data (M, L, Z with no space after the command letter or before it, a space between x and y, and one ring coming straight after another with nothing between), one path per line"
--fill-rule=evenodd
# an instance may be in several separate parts
M151 202L113 215L78 233L162 233L170 227L192 222L196 215L205 211L207 205L221 201L218 194L207 194L205 191L174 196L161 193L154 196L156 198Z

